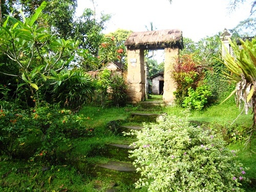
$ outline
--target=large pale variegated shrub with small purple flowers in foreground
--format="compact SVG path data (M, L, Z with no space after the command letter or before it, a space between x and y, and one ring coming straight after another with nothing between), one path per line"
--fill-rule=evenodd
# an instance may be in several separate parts
M243 191L244 168L221 137L189 125L186 117L144 124L131 151L141 173L136 187L147 191Z

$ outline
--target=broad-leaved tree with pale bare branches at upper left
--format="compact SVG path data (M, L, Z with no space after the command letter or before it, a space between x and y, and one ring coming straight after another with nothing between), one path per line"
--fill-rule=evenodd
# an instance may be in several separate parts
M36 104L43 99L40 95L45 95L39 88L48 84L46 81L52 74L74 67L71 61L77 56L79 44L50 35L46 28L38 27L36 20L46 5L42 2L30 17L21 12L23 22L8 16L0 27L0 52L8 57L1 63L0 73L15 78L16 93L22 90L21 87L28 88L27 97L36 97ZM76 65L79 63L77 60Z

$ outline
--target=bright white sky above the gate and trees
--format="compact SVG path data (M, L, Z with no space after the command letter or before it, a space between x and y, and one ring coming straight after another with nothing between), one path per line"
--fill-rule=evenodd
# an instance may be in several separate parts
M198 42L206 36L232 29L250 14L250 0L229 13L229 0L94 0L96 15L101 12L111 14L104 33L117 29L134 32L150 29L150 23L156 30L180 29L183 37ZM77 16L85 8L93 8L91 0L77 0Z

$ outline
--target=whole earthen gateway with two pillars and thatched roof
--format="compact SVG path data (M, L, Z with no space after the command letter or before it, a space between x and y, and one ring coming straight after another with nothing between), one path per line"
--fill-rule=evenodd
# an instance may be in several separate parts
M172 104L173 92L176 89L170 73L179 50L183 48L182 31L174 29L134 32L124 45L127 49L128 62L128 100L134 103L145 100L144 50L164 50L163 101L165 104Z

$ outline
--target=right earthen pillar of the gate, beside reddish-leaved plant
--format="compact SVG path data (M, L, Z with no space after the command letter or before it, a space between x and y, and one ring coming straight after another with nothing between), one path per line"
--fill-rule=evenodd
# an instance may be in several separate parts
M176 87L171 77L171 71L178 54L178 48L165 48L163 101L167 105L173 104L175 99L173 93L176 91Z

